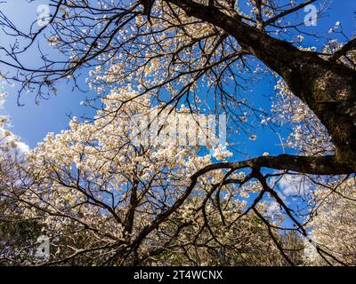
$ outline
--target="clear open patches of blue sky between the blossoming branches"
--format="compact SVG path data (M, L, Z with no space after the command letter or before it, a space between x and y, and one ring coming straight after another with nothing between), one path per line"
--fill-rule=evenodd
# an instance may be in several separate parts
M36 20L36 7L39 4L47 4L48 1L35 1L33 4L28 4L26 0L10 0L7 3L0 3L0 10L4 12L14 23L23 29L28 29L28 24L32 20ZM355 0L338 0L333 1L328 10L328 16L323 17L318 21L317 27L311 27L306 31L318 31L320 40L315 42L314 38L306 37L303 46L320 46L325 43L329 28L333 28L336 21L343 24L344 33L347 36L355 34L356 20L356 1ZM4 36L0 31L0 43L10 43L11 39ZM44 44L43 44L44 45ZM48 50L51 51L50 49ZM54 54L54 53L53 53ZM25 61L28 64L36 65L38 52L35 50L29 51ZM6 69L0 66L0 71L5 72ZM85 87L86 71L81 77L81 85ZM22 94L20 102L24 106L17 105L16 85L4 85L3 89L8 93L8 97L4 106L0 106L0 114L6 114L11 117L12 132L20 136L21 141L28 144L30 147L36 146L37 142L42 141L47 132L60 132L68 127L69 114L80 116L82 114L93 114L93 111L85 106L79 106L80 101L85 99L85 94L80 91L72 91L71 84L62 82L57 86L57 96L41 100L39 106L35 104L34 94ZM257 83L251 94L251 98L255 98L255 106L263 106L269 109L271 101L269 97L273 92L273 84L270 78L265 78L262 82ZM261 155L263 152L270 154L280 154L282 152L280 141L277 134L272 133L268 128L265 130L256 130L257 139L249 141L248 138L242 138L241 150L248 152L249 156ZM286 134L286 131L282 134Z

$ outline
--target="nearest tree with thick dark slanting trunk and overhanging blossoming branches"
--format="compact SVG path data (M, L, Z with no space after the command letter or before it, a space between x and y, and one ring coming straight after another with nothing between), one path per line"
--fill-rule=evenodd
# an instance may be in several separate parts
M5 30L29 43L22 48L17 44L10 49L2 47L6 59L0 62L20 70L16 75L3 74L4 78L22 83L21 90L36 91L37 97L55 91L55 83L61 79L71 78L77 83L79 70L91 67L93 79L88 83L102 98L106 98L108 90L121 90L130 83L138 91L134 98L149 96L168 110L172 109L170 106L185 102L191 113L198 113L202 106L213 105L214 111L223 110L231 115L231 127L238 125L243 130L247 129L246 110L261 114L244 98L239 98L247 76L254 75L254 71L257 75L261 70L274 72L283 80L282 89L287 96L284 99L299 104L296 112L306 110L299 122L301 116L297 118L295 110L291 112L296 118L295 125L300 123L299 126L306 130L308 117L317 122L319 133L324 136L319 140L321 143L313 142L321 151L312 153L314 149L310 145L309 149L302 147L295 155L263 155L242 162L201 163L194 174L186 175L190 179L180 180L184 191L179 194L178 203L167 207L165 212L168 213L164 216L173 217L183 201L192 198L193 190L201 186L200 178L220 175L220 180L211 182L211 188L206 190L207 196L214 193L217 198L221 198L221 191L228 185L256 182L259 191L255 201L242 211L254 212L263 221L281 255L288 264L293 264L287 249L280 246L275 236L276 225L260 212L259 206L266 197L271 198L293 222L294 229L307 238L306 227L310 220L305 220L303 210L290 209L280 197L279 178L298 173L312 192L316 184L327 185L328 178L342 180L340 175L353 175L356 169L355 39L336 50L327 46L324 51L306 51L291 43L295 36L293 30L298 30L299 24L296 20L294 24L288 23L287 17L317 2L308 0L295 4L295 1L255 0L247 1L246 6L223 0L208 4L206 1L157 0L150 1L150 9L147 9L148 3L142 6L142 1L53 1L48 25L39 30L31 28L28 34L2 15L1 24ZM284 31L282 35L274 36L274 32L281 30ZM20 62L21 54L28 51L44 31L45 35L52 34L46 39L61 51L65 60L43 56L43 67L25 67ZM134 98L122 99L115 110L103 108L102 112L115 116ZM88 99L86 103L97 106L96 99ZM294 133L298 133L297 130L300 129L295 127ZM312 138L312 135L315 137L315 133L309 131L305 137ZM300 141L300 136L294 138ZM246 176L242 179L233 176L245 170ZM190 172L191 169L187 173ZM226 215L222 212L220 215L224 222ZM162 220L158 214L152 225L159 225ZM143 225L143 228L150 228L150 225ZM277 229L283 228L277 226ZM142 232L145 230L148 229ZM320 256L344 264L318 243L316 248Z

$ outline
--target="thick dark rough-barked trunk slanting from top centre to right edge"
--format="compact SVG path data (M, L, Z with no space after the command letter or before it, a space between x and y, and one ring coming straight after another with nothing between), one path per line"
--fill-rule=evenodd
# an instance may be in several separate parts
M336 146L336 162L356 170L356 72L273 38L215 7L191 0L167 0L188 15L222 28L277 72L295 96L312 109Z

